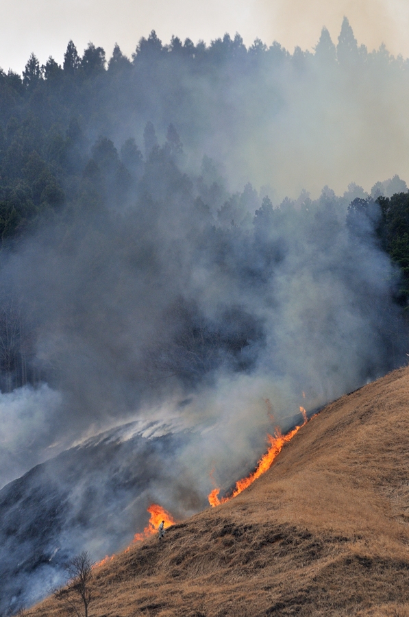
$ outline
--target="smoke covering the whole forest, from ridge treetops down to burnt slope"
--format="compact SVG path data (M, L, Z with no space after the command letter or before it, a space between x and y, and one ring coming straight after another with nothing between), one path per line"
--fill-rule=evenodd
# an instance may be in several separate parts
M271 406L285 426L404 361L408 70L345 20L314 54L152 32L0 74L1 485L177 418L183 516L249 471Z

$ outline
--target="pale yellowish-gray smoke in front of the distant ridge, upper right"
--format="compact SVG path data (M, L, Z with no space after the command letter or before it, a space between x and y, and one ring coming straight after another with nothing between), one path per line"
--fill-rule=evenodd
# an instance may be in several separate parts
M207 56L192 47L176 39L160 51L156 36L142 40L134 79L119 75L94 137L141 143L150 120L164 139L173 122L190 169L207 154L223 162L234 190L269 185L276 205L302 189L317 197L325 185L343 193L352 181L369 190L405 176L408 62L360 45L346 20L338 41L323 29L314 53L261 40L246 50L238 35Z

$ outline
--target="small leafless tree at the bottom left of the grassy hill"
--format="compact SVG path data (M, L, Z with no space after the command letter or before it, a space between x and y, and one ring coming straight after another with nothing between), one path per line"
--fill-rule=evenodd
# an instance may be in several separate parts
M92 561L86 551L75 555L66 566L70 580L67 585L55 592L58 599L70 613L77 617L88 617L88 608L92 602Z

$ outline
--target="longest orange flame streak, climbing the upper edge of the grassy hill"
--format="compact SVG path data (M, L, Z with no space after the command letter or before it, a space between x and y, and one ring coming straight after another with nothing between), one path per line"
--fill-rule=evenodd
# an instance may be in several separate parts
M215 488L212 490L212 492L208 496L208 500L212 508L217 505L221 505L221 503L226 503L226 501L229 501L233 497L239 495L242 491L247 489L247 487L253 484L255 480L260 478L262 474L264 474L265 472L267 472L267 470L271 468L273 461L275 460L277 455L280 454L284 444L286 444L287 441L290 441L290 439L293 439L294 435L298 433L299 429L305 426L308 422L306 410L303 407L300 407L299 411L303 416L303 423L293 428L293 430L289 431L289 433L286 433L286 435L282 435L280 428L278 427L275 429L274 435L267 435L267 439L270 442L269 449L264 455L262 455L260 461L258 461L256 470L253 471L249 476L247 476L247 478L243 478L236 482L236 487L230 497L219 498L220 489Z

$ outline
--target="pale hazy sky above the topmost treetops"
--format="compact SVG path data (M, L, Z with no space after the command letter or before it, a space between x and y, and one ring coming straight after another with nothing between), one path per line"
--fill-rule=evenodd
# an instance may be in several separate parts
M79 52L91 40L108 57L115 42L130 54L151 29L166 43L172 34L197 43L240 32L246 44L312 49L323 25L336 41L344 15L358 43L409 56L408 0L2 0L0 66L20 72L32 51L62 62L70 38Z

